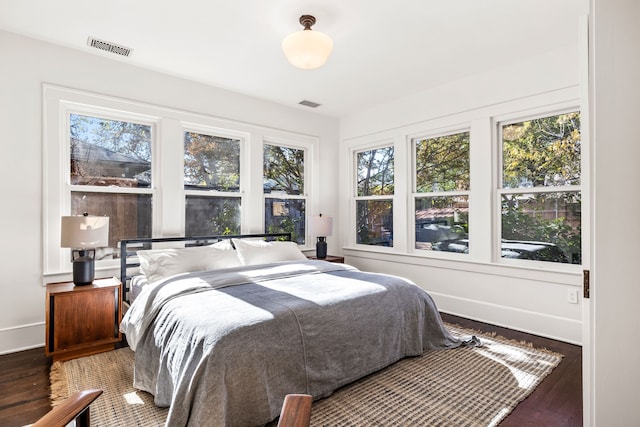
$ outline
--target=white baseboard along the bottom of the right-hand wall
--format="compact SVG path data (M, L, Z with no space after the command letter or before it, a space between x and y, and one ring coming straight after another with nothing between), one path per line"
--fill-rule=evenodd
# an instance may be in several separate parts
M429 292L441 312L582 345L582 322L466 298Z

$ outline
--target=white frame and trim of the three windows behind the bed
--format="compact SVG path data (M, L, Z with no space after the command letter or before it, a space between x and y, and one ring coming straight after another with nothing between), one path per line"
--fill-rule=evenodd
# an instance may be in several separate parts
M280 129L212 117L184 110L100 95L45 83L43 100L43 276L45 282L68 280L70 251L60 248L60 217L70 212L70 111L152 125L152 186L145 189L109 189L77 186L80 191L146 193L152 196L152 236L184 235L184 131L214 131L241 138L241 191L218 193L241 197L241 233L261 233L264 229L262 191L263 141L306 150L305 195L307 215L318 212L319 138ZM66 116L65 116L66 115ZM67 117L65 119L65 117ZM205 133L206 133L205 132ZM196 194L202 195L201 191ZM175 203L182 200L181 203ZM309 236L307 236L309 242ZM308 243L302 250L311 249ZM96 276L117 272L119 260L96 262ZM100 273L98 273L100 271Z

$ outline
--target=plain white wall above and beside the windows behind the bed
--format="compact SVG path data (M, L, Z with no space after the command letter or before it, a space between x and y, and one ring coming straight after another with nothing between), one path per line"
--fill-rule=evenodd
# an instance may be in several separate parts
M0 354L44 343L43 83L317 136L320 168L332 170L337 163L333 118L7 32L0 32L0 58ZM322 179L319 202L325 212L337 212L337 176ZM331 253L340 253L338 236L329 245Z

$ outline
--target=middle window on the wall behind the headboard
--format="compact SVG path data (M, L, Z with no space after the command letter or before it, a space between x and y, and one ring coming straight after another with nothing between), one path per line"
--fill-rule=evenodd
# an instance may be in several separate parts
M240 234L238 138L184 133L185 234Z

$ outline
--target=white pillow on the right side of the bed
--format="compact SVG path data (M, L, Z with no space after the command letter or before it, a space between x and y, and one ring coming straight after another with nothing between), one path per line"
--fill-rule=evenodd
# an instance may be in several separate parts
M244 265L307 259L295 242L233 239L233 245Z

